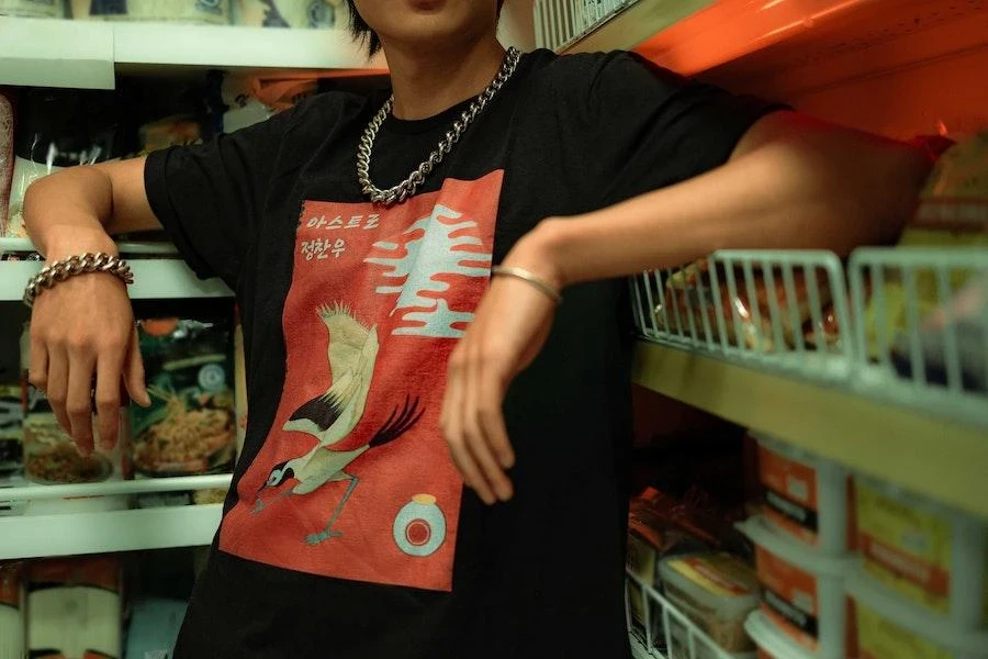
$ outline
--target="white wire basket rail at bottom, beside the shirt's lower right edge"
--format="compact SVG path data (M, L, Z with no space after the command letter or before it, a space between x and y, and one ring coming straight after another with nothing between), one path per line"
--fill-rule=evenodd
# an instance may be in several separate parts
M632 588L640 589L643 594L644 629L639 629L631 619ZM631 652L636 659L739 659L748 657L745 654L731 654L722 649L662 593L630 571L626 571L625 615ZM653 632L658 632L658 634L653 634ZM753 655L752 652L751 656Z

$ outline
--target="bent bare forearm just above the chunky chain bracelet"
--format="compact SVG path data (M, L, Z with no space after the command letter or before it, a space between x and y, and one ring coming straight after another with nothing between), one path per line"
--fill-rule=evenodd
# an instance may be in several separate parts
M79 252L115 254L104 223L113 213L110 178L72 167L35 181L24 197L24 222L34 246L50 259Z

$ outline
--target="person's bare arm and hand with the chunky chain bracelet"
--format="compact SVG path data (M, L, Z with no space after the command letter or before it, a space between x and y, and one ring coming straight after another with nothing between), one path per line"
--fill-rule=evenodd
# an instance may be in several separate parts
M144 165L139 158L72 167L35 181L24 198L24 222L46 261L116 255L111 235L161 228L147 200ZM93 449L93 412L102 445L116 443L121 383L132 399L149 403L123 282L112 275L82 275L38 295L31 317L30 379L47 394L81 453Z

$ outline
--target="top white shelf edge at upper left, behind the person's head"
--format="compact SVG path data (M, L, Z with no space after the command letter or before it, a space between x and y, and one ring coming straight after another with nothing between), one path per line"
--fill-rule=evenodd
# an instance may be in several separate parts
M0 18L0 85L112 89L117 72L222 68L235 71L382 72L381 56L346 30L277 30L168 23Z

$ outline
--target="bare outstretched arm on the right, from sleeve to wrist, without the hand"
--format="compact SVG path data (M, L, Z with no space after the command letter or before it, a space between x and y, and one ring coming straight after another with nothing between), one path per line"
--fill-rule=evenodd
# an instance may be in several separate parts
M929 161L909 147L810 130L695 179L534 232L559 284L683 265L716 249L822 248L894 241ZM523 247L524 249L524 247Z

